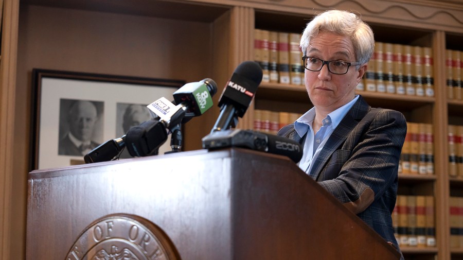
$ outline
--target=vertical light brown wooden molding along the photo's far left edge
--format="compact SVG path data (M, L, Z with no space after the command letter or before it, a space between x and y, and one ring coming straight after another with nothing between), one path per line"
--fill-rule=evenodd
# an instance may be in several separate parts
M3 2L3 1L2 1ZM12 257L13 228L13 149L14 149L14 106L16 92L16 53L19 19L19 1L5 1L3 5L2 60L0 63L0 259ZM17 191L21 194L22 190ZM20 218L22 219L22 218ZM24 245L22 245L24 246ZM22 250L22 248L20 249ZM20 251L21 252L21 251ZM17 255L20 257L21 255ZM14 257L13 257L14 258Z

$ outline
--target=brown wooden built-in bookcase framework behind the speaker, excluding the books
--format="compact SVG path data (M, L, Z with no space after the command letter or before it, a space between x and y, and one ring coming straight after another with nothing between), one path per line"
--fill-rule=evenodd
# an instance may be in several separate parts
M1 4L3 3L3 5ZM20 5L21 4L21 5ZM377 41L431 47L434 58L433 97L359 91L372 107L402 112L410 122L433 125L432 176L399 176L402 192L435 198L437 246L403 248L406 259L462 259L449 247L449 197L463 191L461 180L447 173L449 123L463 125L463 100L447 98L445 50L463 50L463 3L448 0L23 0L3 1L0 53L0 260L24 258L26 178L29 170L32 68L49 68L126 76L198 81L214 79L221 92L236 66L254 57L254 29L300 33L316 13L327 9L356 10L370 24ZM2 12L0 12L2 14ZM47 17L47 19L43 19ZM85 22L85 23L84 23ZM60 33L55 35L54 32ZM129 33L132 38L123 36ZM48 41L51 38L53 41ZM96 60L97 45L66 39L112 39L114 55ZM118 45L118 42L125 43ZM149 42L150 44L140 44ZM140 45L138 45L140 44ZM128 47L137 45L139 48ZM63 58L66 57L66 58ZM147 59L149 57L149 59ZM183 62L182 62L183 61ZM184 64L192 64L190 66ZM220 95L214 97L217 103ZM253 126L254 109L303 113L311 107L303 85L262 83L256 100L239 127ZM186 150L201 149L219 114L214 107L185 126ZM458 123L460 122L460 123ZM13 188L14 187L14 188ZM399 189L401 188L399 187ZM11 217L11 216L17 217ZM3 256L3 258L2 258Z

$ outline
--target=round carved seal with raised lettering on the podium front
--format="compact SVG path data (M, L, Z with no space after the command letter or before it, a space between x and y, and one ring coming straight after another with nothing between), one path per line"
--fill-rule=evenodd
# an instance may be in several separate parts
M180 260L169 237L135 215L97 219L79 235L66 260Z

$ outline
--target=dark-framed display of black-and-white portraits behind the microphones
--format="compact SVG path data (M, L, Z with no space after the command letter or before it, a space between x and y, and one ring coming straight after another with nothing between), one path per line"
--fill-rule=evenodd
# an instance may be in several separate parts
M98 145L152 118L149 103L173 99L183 80L32 71L31 169L83 164ZM170 151L170 138L159 154ZM131 158L127 149L121 159Z

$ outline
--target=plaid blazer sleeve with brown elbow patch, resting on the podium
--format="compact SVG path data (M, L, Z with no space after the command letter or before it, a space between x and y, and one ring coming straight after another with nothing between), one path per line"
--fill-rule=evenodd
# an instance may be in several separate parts
M356 214L377 199L389 196L395 201L390 189L396 185L397 192L397 171L407 128L404 116L394 110L381 109L372 118L367 114L364 119L331 155L317 179Z

